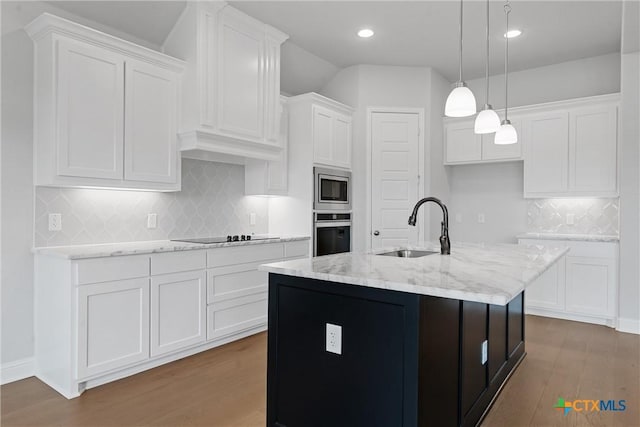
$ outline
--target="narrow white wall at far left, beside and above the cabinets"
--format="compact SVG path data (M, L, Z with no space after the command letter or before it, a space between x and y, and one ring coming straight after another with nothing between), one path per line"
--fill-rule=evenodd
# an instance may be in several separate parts
M33 355L33 44L23 28L41 13L49 12L134 43L140 41L50 3L3 1L0 7L3 122L0 363L5 365Z

